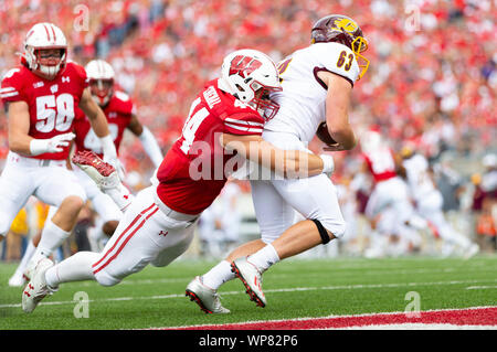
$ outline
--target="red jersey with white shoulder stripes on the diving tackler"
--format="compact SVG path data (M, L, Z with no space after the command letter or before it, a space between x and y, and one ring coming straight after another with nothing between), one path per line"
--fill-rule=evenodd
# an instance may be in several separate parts
M258 135L264 119L211 81L193 102L181 137L159 167L157 193L170 209L199 214L220 194L226 183L226 163L235 154L224 152L221 134ZM236 166L233 166L235 171Z

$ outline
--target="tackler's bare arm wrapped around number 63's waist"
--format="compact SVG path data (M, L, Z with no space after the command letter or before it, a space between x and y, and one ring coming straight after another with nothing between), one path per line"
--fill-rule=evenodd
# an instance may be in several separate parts
M283 150L265 141L261 136L223 134L221 145L236 150L242 157L256 162L287 179L308 178L332 172L331 156L316 156L302 150Z

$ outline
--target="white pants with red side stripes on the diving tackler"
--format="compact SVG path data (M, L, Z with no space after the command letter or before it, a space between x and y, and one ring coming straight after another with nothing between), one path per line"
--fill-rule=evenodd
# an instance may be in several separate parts
M93 264L101 285L116 285L148 264L166 266L188 249L198 218L169 217L155 193L156 186L149 186L137 194Z

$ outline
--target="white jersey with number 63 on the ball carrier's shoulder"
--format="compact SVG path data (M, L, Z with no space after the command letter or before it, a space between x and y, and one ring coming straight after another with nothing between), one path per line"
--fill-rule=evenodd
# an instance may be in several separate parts
M278 64L278 70L283 90L271 98L279 104L279 110L264 128L297 135L306 142L326 120L327 87L317 73L329 71L353 85L360 72L353 52L339 43L316 43L297 50Z

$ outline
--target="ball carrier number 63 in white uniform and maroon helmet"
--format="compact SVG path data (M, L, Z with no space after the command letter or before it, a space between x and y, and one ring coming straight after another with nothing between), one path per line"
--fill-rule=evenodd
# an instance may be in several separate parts
M352 149L357 139L348 109L353 84L369 65L361 55L368 42L352 19L339 14L318 20L311 30L311 42L279 63L283 90L271 95L279 110L264 126L263 138L282 149L308 151L307 143L326 121L336 141L326 150ZM228 311L216 290L235 276L242 279L251 299L264 307L265 270L281 259L340 238L346 231L336 188L326 174L255 180L251 185L261 239L240 246L187 287L187 295L194 295L199 306L211 312ZM294 224L295 211L306 220Z

